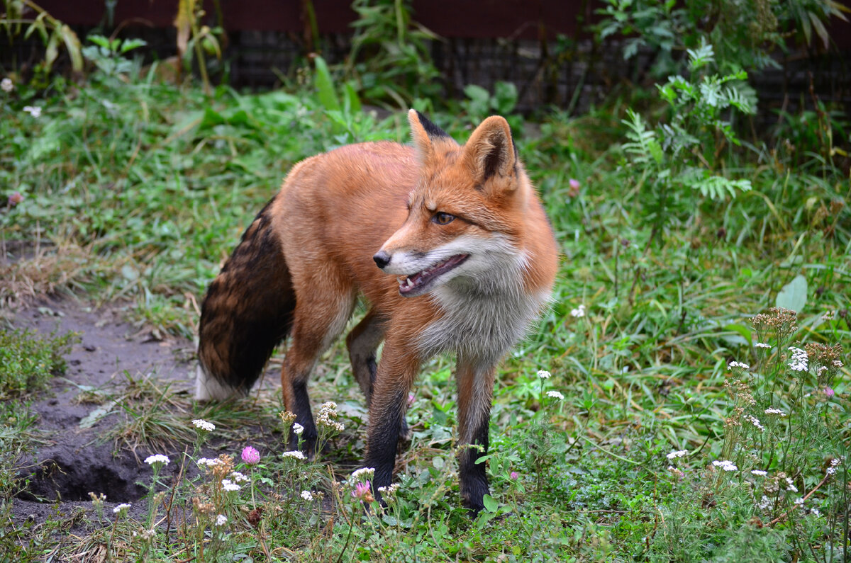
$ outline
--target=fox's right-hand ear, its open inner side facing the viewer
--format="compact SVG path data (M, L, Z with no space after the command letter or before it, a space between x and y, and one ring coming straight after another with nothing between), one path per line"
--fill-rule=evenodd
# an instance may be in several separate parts
M464 156L473 175L484 182L494 176L511 174L517 163L511 128L504 117L485 119L464 145Z

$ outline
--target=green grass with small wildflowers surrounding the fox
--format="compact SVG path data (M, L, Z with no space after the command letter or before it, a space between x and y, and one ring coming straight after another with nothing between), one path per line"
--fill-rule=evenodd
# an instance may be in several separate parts
M218 88L207 97L154 76L95 74L83 88L57 83L39 100L24 88L0 99L0 136L9 141L0 146L0 185L23 196L0 209L5 302L54 290L130 300L135 321L191 338L208 282L294 162L408 135L402 114L355 113L341 128L304 90ZM25 102L42 105L42 116L20 111ZM459 139L475 121L436 119ZM601 110L575 120L554 114L540 137L517 139L563 259L551 309L500 368L488 458L494 501L483 515L460 508L444 357L415 389L398 492L387 509L363 512L346 480L363 456L365 412L338 343L311 393L316 405L338 403L346 429L311 462L281 457L276 396L204 407L130 378L127 394L107 399L124 412L117 446L185 452L171 458L181 470L160 477L143 465L146 517L106 509L104 525L72 543L50 532L55 522L38 532L42 548L175 561L843 560L847 355L826 379L817 375L823 351L802 373L791 371L786 347L849 342L847 169L818 152L777 156L756 144L750 154L728 152L726 169L753 189L723 201L676 191L656 228L648 222L656 195L620 149L623 130ZM751 317L774 319L768 308L798 275L808 291L791 336L779 337L780 321L760 334ZM769 407L787 416L773 420ZM748 416L767 428L748 426ZM11 418L4 431L13 435L32 424ZM198 435L192 418L217 428ZM202 442L213 439L235 457L194 469ZM248 444L260 449L258 465L238 458ZM720 460L736 469L711 463ZM14 457L3 464L2 475L14 475ZM252 481L224 491L232 470ZM0 545L35 560L44 552L8 519L14 486L4 490ZM220 515L227 521L218 525Z

